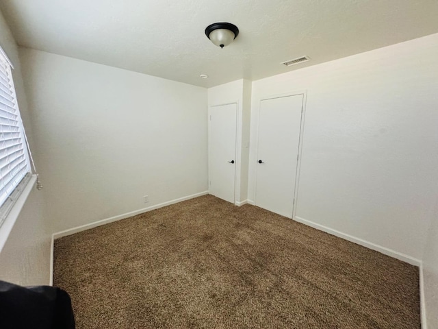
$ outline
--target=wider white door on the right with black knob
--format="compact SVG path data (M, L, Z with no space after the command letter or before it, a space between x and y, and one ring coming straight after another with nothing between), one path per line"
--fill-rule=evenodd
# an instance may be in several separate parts
M302 95L260 102L255 204L292 218Z

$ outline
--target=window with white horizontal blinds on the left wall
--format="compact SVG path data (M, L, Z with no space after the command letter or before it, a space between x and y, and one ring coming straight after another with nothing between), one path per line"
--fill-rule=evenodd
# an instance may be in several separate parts
M29 181L30 171L12 65L0 48L0 226Z

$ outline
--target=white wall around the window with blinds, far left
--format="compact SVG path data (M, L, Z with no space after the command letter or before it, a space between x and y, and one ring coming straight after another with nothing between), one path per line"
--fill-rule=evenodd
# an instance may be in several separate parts
M0 46L8 54L14 70L14 84L21 117L31 149L36 151L29 125L18 48L0 12ZM38 162L37 162L38 164ZM1 230L1 227L0 227ZM14 228L0 252L0 280L16 284L49 284L50 236L44 217L42 191L31 191Z

